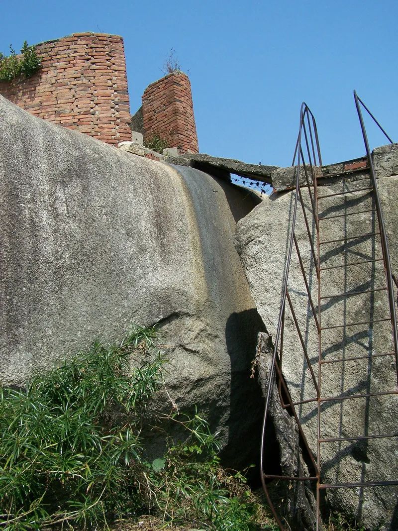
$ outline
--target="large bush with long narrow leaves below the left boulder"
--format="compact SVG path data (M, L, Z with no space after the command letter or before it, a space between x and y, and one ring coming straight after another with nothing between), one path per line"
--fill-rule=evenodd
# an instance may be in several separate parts
M153 329L96 342L22 390L0 396L0 524L92 525L139 505L140 429L163 363ZM141 364L128 374L128 358Z

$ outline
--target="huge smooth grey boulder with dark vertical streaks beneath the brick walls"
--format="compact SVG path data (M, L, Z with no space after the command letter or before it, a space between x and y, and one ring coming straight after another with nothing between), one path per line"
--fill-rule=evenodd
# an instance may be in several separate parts
M252 463L262 400L249 375L262 323L233 233L254 196L2 97L0 138L2 382L23 384L131 323L160 322L171 398L209 415L230 466Z

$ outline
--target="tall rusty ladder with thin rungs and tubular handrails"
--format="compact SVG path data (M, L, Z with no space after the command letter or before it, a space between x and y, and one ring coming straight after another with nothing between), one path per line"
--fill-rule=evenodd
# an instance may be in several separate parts
M382 213L382 207L380 204L379 199L379 193L378 193L378 187L377 187L377 181L376 181L376 175L375 175L375 169L373 165L373 160L371 158L371 152L369 148L369 142L367 139L366 129L364 125L364 120L362 117L361 112L361 106L365 108L365 110L368 112L368 114L373 118L375 123L378 125L380 130L386 135L388 141L392 143L391 138L385 133L383 128L380 126L380 124L377 122L376 118L373 116L373 114L370 113L369 109L365 106L365 104L362 102L362 100L357 96L357 93L354 91L354 101L356 104L358 117L361 125L361 131L362 135L364 137L365 142L365 148L367 153L367 160L368 160L368 167L367 172L369 173L369 186L365 187L356 187L353 190L344 190L336 193L331 194L319 194L319 186L318 186L318 180L322 179L322 176L319 174L319 171L317 171L316 167L322 166L322 158L321 158L321 150L319 148L319 141L318 141L318 134L317 134L317 128L316 128L316 122L313 114L311 113L308 106L303 103L300 109L300 128L299 128L299 135L296 143L296 149L295 149L295 155L293 157L293 164L292 166L296 166L296 196L295 196L295 202L293 205L293 216L292 216L292 223L291 223L291 235L290 235L290 242L289 242L289 249L288 249L288 255L287 255L287 264L285 269L285 277L284 277L284 283L283 283L283 290L282 290L282 302L281 302L281 309L279 314L279 320L278 320L278 328L276 330L276 336L274 340L274 350L273 350L273 356L272 356L272 363L270 367L270 375L269 375L269 381L268 381L268 387L267 387L267 393L266 393L266 399L265 399L265 412L264 412L264 421L263 421L263 432L262 432L262 441L261 441L261 479L263 484L263 489L266 494L267 501L269 502L271 509L274 513L275 519L278 522L278 525L280 529L283 531L285 529L284 525L282 524L281 518L278 515L278 511L275 510L275 507L273 506L273 503L271 501L267 482L272 479L279 479L281 481L300 481L300 482L312 482L314 486L316 486L316 529L318 530L319 526L321 525L321 492L326 492L327 490L334 490L334 489L342 489L342 488L356 488L356 487L377 487L377 486L388 486L388 485L398 485L398 479L393 480L386 480L381 478L378 481L345 481L345 482L335 482L326 483L324 481L324 474L322 470L322 445L327 443L337 443L341 444L344 442L358 442L361 441L363 443L367 443L370 439L388 439L398 436L398 433L392 432L392 433L368 433L366 431L365 435L352 435L352 436L338 436L336 434L333 437L325 437L322 435L322 416L323 416L323 408L327 404L331 403L339 403L343 404L345 400L350 399L365 399L369 400L373 397L382 397L387 395L396 395L398 394L398 333L397 333L397 324L396 324L396 312L395 312L395 301L394 301L394 290L393 290L393 281L395 281L395 278L392 275L391 271L391 263L390 263L390 254L388 252L388 242L387 242L387 236L384 226L384 219L383 219L383 213ZM306 156L305 156L306 155ZM328 176L331 177L330 175ZM344 175L335 175L335 177L338 177L344 181L344 178L347 176ZM351 177L351 175L350 175ZM301 180L300 180L301 179ZM310 210L312 210L313 213L313 219L309 220L308 215L306 213L306 209L304 207L304 200L303 200L303 194L301 192L301 184L302 181L304 181L304 185L308 190L308 199L310 204ZM348 182L350 179L348 179ZM347 212L345 211L343 214L338 213L336 215L323 215L322 212L319 213L319 204L322 204L322 202L327 198L345 198L348 194L363 194L369 195L372 198L373 204L372 208L360 210L360 211L353 211L353 212ZM296 237L296 222L297 222L297 209L298 209L298 203L301 205L302 209L302 215L304 218L304 222L306 225L306 232L308 234L308 241L310 243L310 249L312 254L312 260L313 260L313 267L316 272L316 280L317 280L317 307L316 304L314 304L313 296L312 296L312 290L309 285L309 281L307 279L304 261L302 260L302 256L300 253L299 245L297 242ZM344 204L344 203L342 203ZM339 207L339 205L334 204L334 209L336 207ZM330 209L327 209L330 210ZM333 210L333 209L332 209ZM337 211L339 209L337 208ZM323 260L321 259L320 249L321 247L325 245L334 245L341 243L341 239L325 239L321 240L321 230L320 227L322 227L322 222L325 220L329 220L329 222L334 222L337 219L344 219L346 220L350 216L355 215L364 215L365 213L369 213L370 216L374 217L374 220L377 219L378 224L378 230L373 230L371 233L365 233L360 235L350 235L348 237L344 236L344 242L347 243L347 241L354 242L356 240L366 239L366 238L377 238L380 239L380 247L381 247L381 255L380 256L372 256L372 258L366 259L366 260L358 260L358 261L352 261L347 262L347 260L343 261L342 263L337 263L334 265L325 265ZM311 223L310 223L311 222ZM314 244L313 241L313 233L311 230L310 225L313 225L315 232L316 232L316 243ZM292 260L292 254L293 254L293 247L296 251L298 262L300 265L300 270L302 273L302 277L304 280L307 296L308 296L308 306L310 307L310 314L311 318L314 320L315 327L317 330L317 336L318 336L318 352L316 353L317 357L317 369L314 370L314 367L312 366L311 359L310 359L310 353L307 351L307 344L305 341L305 338L303 337L303 333L300 329L300 323L299 319L297 318L295 308L293 306L290 294L289 294L289 271L290 271L290 263ZM382 262L384 264L384 270L385 270L385 286L378 287L378 288L371 288L367 289L367 286L361 289L350 289L345 291L344 293L339 294L328 294L324 292L325 286L322 285L321 278L324 276L325 271L331 272L332 270L336 269L342 269L343 271L347 271L348 268L352 267L360 267L361 265L365 264L371 264L372 267L376 262ZM395 281L396 282L396 281ZM326 286L327 288L327 286ZM347 323L340 323L340 324L334 324L332 326L322 326L322 305L325 305L324 301L331 301L332 299L344 301L345 299L348 299L350 297L355 297L357 295L363 295L363 294L369 294L369 296L374 297L377 292L386 292L388 297L388 311L389 315L386 318L382 319L371 319L367 321L349 321ZM288 388L288 384L285 382L283 378L283 370L282 370L282 362L283 362L283 336L284 336L284 328L285 328L285 309L287 307L290 309L293 323L295 324L296 331L298 333L298 337L300 340L300 344L302 347L302 352L304 354L305 361L304 363L307 365L308 370L310 372L310 376L314 385L314 389L316 392L316 397L305 399L305 400L296 400L293 401L293 398L291 397L291 393ZM326 303L327 306L327 303ZM385 321L391 322L392 327L392 349L391 352L383 352L379 354L367 354L363 356L350 356L350 357L341 357L339 359L328 359L325 357L323 352L323 333L330 330L337 330L341 329L344 331L347 328L357 328L357 327L368 327L368 330L373 328L374 326L379 326L380 323L383 323ZM325 369L330 364L345 364L345 363L357 363L361 359L368 359L368 363L371 363L374 358L387 358L391 356L395 357L395 372L396 372L396 379L395 379L395 388L394 389L388 389L386 391L379 391L379 392L373 392L371 388L369 387L366 392L356 392L355 390L348 390L342 391L340 395L337 396L323 396L323 382L322 382L322 370ZM316 374L317 372L317 374ZM275 376L274 376L275 375ZM265 431L267 426L267 417L269 416L269 409L270 409L270 403L272 399L272 386L274 382L274 378L276 379L276 382L278 383L278 391L279 391L279 399L282 408L286 409L290 415L295 419L299 437L300 437L300 443L301 447L304 448L307 452L307 456L309 457L309 476L301 476L301 477L295 477L295 476L288 476L288 475L275 475L275 474L267 474L265 471L265 460L266 460L266 438L265 438ZM326 393L327 394L327 393ZM301 407L304 404L310 404L310 402L316 402L316 410L317 410L317 433L313 434L312 437L313 441L316 441L316 456L313 455L313 452L310 449L310 444L307 442L307 438L305 435L306 427L303 428L300 422L300 415L297 412L297 407ZM315 492L315 489L314 489Z

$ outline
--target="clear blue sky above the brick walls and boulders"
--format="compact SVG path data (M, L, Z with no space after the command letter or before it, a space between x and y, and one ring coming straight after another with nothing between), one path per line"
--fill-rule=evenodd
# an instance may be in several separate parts
M170 48L201 152L288 166L305 100L324 164L364 154L352 90L398 140L398 0L0 0L0 51L74 32L125 40L132 114ZM384 144L369 123L370 141Z

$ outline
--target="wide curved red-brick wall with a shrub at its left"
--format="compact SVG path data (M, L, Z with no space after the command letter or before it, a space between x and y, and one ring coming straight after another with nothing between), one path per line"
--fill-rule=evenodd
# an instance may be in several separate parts
M0 94L29 113L116 144L131 140L123 38L73 33L36 47L42 67Z

